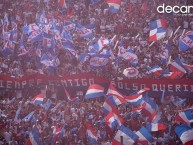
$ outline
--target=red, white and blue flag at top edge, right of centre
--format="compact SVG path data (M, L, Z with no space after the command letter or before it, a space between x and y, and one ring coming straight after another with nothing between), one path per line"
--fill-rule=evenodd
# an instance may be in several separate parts
M112 13L117 13L121 5L121 0L107 0L107 4Z

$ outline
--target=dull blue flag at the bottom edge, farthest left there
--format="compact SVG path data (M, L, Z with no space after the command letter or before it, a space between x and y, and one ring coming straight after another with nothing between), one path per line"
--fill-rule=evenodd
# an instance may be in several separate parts
M31 133L29 134L29 141L32 145L42 145L40 141L40 133L36 126L33 127Z

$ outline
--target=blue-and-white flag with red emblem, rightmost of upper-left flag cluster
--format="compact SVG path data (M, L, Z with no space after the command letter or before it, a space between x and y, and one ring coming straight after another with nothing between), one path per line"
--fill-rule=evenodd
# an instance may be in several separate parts
M79 23L76 24L76 31L84 38L92 38L94 36L91 29L87 29Z

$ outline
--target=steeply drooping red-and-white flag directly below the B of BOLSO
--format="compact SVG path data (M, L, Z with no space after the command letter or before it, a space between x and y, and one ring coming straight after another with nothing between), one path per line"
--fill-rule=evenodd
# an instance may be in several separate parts
M107 90L107 95L112 96L117 105L125 103L124 95L122 95L111 83Z

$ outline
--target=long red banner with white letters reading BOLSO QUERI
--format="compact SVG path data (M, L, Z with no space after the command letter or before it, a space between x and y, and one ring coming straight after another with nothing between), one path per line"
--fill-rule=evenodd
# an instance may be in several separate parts
M64 86L74 91L86 92L91 84L100 84L107 90L109 83L112 83L123 94L133 93L144 87L149 87L151 93L159 94L165 90L166 94L174 94L179 96L193 96L193 80L179 79L125 79L121 81L111 81L105 78L96 77L88 73L68 75L64 77L46 76L46 75L30 75L22 78L12 78L0 75L0 89L24 89L34 85L54 85Z

